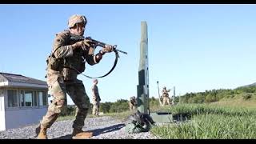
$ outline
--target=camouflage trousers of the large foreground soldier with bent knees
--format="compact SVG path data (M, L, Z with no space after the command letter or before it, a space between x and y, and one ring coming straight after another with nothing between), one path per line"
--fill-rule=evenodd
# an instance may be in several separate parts
M60 74L47 74L46 82L49 86L49 92L54 99L50 103L46 115L42 118L41 125L49 128L56 121L64 106L66 106L67 93L78 107L73 128L82 129L90 106L90 99L86 94L82 81L75 79L72 82L64 82Z

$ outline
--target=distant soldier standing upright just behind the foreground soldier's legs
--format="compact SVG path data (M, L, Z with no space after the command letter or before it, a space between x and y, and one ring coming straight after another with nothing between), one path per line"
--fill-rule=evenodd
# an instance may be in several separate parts
M98 111L99 111L99 102L101 101L101 98L99 97L98 94L98 80L94 79L94 86L91 88L92 90L92 94L93 94L93 115L98 115Z

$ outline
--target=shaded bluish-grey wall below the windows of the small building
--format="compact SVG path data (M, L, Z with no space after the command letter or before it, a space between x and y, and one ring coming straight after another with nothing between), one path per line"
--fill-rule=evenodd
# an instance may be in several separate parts
M46 114L47 106L41 108L24 108L6 110L6 130L14 129L31 124L38 124L42 116Z

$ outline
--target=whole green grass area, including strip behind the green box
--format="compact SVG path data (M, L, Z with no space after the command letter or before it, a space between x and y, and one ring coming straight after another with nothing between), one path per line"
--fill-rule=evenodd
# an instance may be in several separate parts
M256 109L206 104L164 107L173 114L191 114L188 122L154 127L159 138L250 139L256 138Z

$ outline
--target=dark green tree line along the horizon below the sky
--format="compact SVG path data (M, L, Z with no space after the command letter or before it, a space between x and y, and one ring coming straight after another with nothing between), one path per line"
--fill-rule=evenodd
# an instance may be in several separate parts
M256 95L256 86L244 86L238 87L234 90L231 89L219 89L219 90L206 90L204 92L186 93L182 96L175 97L174 103L207 103L218 102L222 98L234 98L236 95L241 95L243 99L250 99L253 95ZM151 97L150 109L159 107L158 98ZM90 103L88 114L91 114L93 104ZM116 102L101 102L100 112L106 113L120 113L129 110L129 101L126 99L118 99ZM72 115L75 113L75 106L66 106L65 110L62 110L62 116Z

